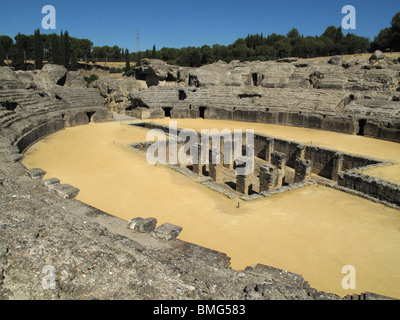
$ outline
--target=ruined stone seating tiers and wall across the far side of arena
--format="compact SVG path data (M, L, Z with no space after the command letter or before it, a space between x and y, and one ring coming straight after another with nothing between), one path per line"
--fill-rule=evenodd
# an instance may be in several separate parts
M398 60L374 53L369 59L220 61L200 68L145 59L136 79L98 80L93 87L113 111L139 119L261 122L399 142L399 79Z

